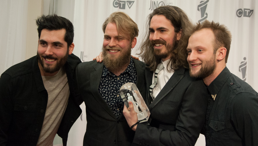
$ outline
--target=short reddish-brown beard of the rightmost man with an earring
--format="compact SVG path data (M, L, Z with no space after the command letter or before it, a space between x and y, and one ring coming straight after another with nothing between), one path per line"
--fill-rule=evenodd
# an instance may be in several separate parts
M196 74L192 74L191 67L190 67L189 74L191 77L204 79L209 75L211 75L214 72L215 68L216 68L216 60L214 55L209 61L202 63L202 67L200 71L198 71Z

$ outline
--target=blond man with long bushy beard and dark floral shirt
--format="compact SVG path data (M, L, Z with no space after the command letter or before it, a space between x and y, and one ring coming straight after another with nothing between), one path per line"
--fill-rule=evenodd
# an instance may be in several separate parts
M123 12L112 13L103 23L103 62L80 63L76 69L79 99L85 102L87 129L83 145L129 146L134 137L122 114L120 87L136 83L145 97L145 64L132 59L137 24Z

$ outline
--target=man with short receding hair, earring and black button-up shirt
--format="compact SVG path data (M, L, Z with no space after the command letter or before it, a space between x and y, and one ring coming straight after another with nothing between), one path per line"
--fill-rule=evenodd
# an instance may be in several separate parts
M190 76L202 78L208 89L202 133L207 146L258 145L258 93L226 67L230 43L226 26L208 20L189 38Z

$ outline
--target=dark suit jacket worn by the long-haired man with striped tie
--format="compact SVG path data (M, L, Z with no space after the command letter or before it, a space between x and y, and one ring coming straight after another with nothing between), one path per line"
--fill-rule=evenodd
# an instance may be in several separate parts
M153 72L146 70L146 87ZM150 104L150 126L138 124L133 145L194 145L205 121L207 90L202 80L193 79L187 69L175 71Z

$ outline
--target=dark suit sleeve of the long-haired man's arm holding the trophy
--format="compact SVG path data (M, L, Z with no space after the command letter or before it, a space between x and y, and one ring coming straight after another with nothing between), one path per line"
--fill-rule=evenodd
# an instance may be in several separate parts
M207 90L202 80L193 81L182 97L175 131L158 129L139 123L134 136L134 145L195 145L205 121L206 97Z

